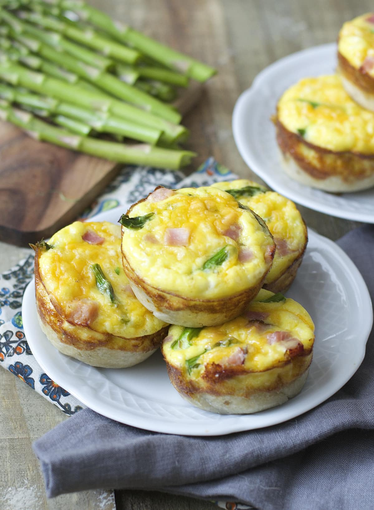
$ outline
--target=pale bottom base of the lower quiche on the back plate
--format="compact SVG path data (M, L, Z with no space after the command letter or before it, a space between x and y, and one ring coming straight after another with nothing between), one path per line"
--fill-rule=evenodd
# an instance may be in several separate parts
M286 174L291 179L317 188L323 191L329 191L330 193L353 193L355 191L362 191L374 186L374 173L365 179L357 179L354 182L346 183L337 175L327 177L327 179L314 179L309 173L301 168L295 160L289 155L284 155L280 150L282 158L282 166Z

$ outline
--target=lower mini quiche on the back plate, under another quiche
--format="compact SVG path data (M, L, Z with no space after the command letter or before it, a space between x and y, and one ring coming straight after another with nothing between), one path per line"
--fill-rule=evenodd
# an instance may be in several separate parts
M348 96L337 75L286 90L275 123L285 171L296 181L330 192L374 186L374 113Z

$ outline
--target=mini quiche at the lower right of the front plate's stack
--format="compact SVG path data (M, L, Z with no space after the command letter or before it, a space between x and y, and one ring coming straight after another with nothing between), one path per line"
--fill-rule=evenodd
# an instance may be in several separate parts
M262 289L221 326L170 326L161 350L183 398L206 411L247 414L301 391L312 361L314 325L293 299Z

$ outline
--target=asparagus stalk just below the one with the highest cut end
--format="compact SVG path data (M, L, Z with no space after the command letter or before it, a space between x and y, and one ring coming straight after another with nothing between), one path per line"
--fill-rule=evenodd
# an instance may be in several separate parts
M25 23L20 21L16 16L11 14L10 12L5 11L4 9L0 10L0 19L3 19L7 23L9 23L10 27L14 32L18 34L22 34L26 31ZM33 25L28 25L28 34L39 38L44 43L53 46L55 49L60 52L66 52L73 57L85 62L88 65L97 67L98 69L108 69L113 66L112 60L98 55L94 52L91 52L88 48L84 48L75 44L71 41L68 41L60 34L45 32L39 29L36 29Z

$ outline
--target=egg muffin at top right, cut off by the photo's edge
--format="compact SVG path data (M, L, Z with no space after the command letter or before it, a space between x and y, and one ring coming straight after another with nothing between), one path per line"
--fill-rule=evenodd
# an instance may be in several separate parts
M352 99L374 111L374 13L343 24L338 40L338 71Z

